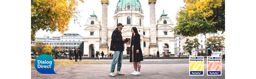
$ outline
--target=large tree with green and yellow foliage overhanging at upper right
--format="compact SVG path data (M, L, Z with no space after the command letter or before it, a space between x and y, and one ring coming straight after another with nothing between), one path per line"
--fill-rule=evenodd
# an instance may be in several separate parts
M225 0L183 0L172 31L183 36L225 32Z

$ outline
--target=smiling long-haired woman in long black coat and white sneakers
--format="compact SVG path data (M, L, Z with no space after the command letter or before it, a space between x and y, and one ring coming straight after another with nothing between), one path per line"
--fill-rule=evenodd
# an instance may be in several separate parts
M143 61L142 51L140 47L140 34L136 27L132 27L132 41L130 51L130 62L133 62L134 70L131 75L140 75L141 64L140 61ZM138 68L138 70L137 70Z

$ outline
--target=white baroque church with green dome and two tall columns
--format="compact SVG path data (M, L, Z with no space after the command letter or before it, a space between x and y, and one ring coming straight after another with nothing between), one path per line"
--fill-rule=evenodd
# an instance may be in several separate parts
M98 20L97 15L93 12L87 19L84 25L84 56L94 57L94 53L103 51L105 55L110 53L111 35L116 25L122 23L124 25L122 32L123 39L131 38L131 28L136 27L140 34L140 43L142 53L145 57L149 55L156 55L159 51L160 56L163 52L174 53L174 39L175 35L170 32L174 26L166 13L161 14L160 18L156 21L155 4L156 0L149 0L150 16L144 16L143 7L139 0L119 0L113 16L114 26L107 25L107 7L108 0L101 0L102 4L102 19ZM144 17L150 17L150 26L144 26ZM123 55L129 55L130 45L125 44Z

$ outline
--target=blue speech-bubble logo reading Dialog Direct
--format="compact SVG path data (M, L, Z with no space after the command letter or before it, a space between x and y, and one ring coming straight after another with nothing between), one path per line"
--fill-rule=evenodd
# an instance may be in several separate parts
M35 69L41 74L57 74L53 70L54 61L46 54L40 55L35 59Z

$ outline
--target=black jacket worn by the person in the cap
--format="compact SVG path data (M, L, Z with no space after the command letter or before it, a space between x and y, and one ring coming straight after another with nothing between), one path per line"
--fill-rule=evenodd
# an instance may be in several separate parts
M115 28L111 36L110 51L124 51L124 42L121 34L122 32Z

